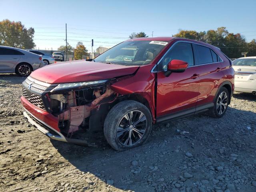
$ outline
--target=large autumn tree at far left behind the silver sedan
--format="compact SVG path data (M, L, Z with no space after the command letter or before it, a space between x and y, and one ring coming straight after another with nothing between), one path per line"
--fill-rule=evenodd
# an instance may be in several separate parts
M27 29L20 21L0 21L0 45L32 49L36 46L34 33L34 28Z

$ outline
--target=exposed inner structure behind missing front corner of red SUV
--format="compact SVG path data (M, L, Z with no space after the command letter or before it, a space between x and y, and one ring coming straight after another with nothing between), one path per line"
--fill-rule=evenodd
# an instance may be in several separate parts
M110 103L118 97L109 85L79 90L49 92L51 113L58 117L59 128L67 138L79 129L99 130L110 109ZM101 110L99 110L101 108ZM105 115L104 115L105 114Z

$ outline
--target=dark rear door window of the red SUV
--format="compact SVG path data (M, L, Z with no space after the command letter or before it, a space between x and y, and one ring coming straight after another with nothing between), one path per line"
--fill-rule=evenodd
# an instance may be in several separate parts
M210 48L200 45L195 45L196 48L196 65L202 65L213 62L213 57Z

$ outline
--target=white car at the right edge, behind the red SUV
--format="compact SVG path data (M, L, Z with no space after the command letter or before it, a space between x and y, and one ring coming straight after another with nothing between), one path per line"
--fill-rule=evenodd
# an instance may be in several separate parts
M233 61L235 91L256 95L256 57L242 57Z

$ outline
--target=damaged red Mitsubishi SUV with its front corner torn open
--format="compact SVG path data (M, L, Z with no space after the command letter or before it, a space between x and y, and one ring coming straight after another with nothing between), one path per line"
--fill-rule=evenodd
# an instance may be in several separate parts
M52 139L104 129L112 148L144 143L152 123L209 110L222 117L234 90L232 62L212 45L158 37L122 42L91 62L45 66L22 83L24 116Z

